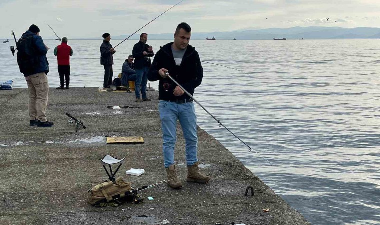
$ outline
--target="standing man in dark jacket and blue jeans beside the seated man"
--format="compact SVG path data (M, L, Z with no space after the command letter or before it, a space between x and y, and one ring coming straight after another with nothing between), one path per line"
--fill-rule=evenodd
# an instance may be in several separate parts
M150 101L146 96L147 73L151 66L150 57L154 55L153 47L146 44L148 34L141 33L140 41L133 46L134 69L136 70L136 102ZM142 100L140 99L140 90Z

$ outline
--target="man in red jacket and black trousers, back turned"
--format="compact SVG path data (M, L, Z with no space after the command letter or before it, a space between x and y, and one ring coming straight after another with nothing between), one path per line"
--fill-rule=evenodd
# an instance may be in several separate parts
M62 44L54 49L54 55L58 59L58 73L60 79L60 86L57 90L68 89L70 85L70 56L72 56L72 49L67 45L67 37L62 38ZM64 78L66 78L66 88L64 88Z

